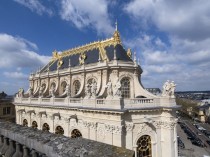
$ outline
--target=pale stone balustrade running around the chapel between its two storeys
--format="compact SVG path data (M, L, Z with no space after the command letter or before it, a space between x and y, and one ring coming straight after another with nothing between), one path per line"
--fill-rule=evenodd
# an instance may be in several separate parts
M83 99L83 98L15 98L16 104L46 105L64 107L82 107L96 109L144 109L176 106L175 99L162 98L135 98L135 99Z

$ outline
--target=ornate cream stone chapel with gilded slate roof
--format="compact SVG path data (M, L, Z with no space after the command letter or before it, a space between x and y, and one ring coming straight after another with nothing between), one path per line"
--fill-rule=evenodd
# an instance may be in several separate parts
M16 122L124 147L136 157L176 157L175 84L167 82L170 93L157 96L142 87L141 74L117 30L109 39L55 51L30 75L29 90L16 95Z

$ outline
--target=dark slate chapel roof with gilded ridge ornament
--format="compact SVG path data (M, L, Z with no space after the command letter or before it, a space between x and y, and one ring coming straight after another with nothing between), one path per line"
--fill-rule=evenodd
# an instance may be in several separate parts
M115 32L114 35L115 35L114 37L105 41L99 41L91 43L89 45L64 51L61 54L61 60L63 64L59 67L59 69L68 68L69 60L71 63L71 67L79 66L80 65L79 57L81 53L84 53L86 55L86 59L84 60L85 65L97 63L99 59L99 53L101 54L100 48L103 48L103 50L105 51L105 55L108 58L108 61L112 61L114 59L114 49L116 49L117 60L132 62L132 59L127 55L127 51L123 48L121 44L119 32ZM115 39L116 36L117 39ZM116 46L114 47L114 45ZM90 46L92 46L92 48L89 48ZM42 68L41 72L48 71L48 68L49 71L57 70L58 61L59 61L58 58L50 61L45 67Z

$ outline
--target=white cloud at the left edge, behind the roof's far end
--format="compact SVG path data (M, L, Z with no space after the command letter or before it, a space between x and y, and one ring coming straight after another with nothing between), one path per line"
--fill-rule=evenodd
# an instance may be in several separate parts
M39 55L36 44L8 34L0 34L0 87L7 94L28 88L29 71L46 64L50 57Z

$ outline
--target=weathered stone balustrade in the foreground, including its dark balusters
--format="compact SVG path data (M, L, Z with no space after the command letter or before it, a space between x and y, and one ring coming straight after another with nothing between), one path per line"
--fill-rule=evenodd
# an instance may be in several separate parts
M133 157L134 151L84 138L68 138L0 121L3 157Z

